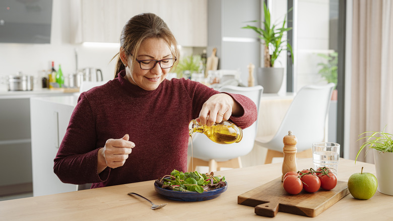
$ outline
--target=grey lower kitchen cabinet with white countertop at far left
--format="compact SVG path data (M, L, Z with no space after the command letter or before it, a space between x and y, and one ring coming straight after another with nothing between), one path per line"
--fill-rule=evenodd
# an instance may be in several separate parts
M64 95L57 91L0 92L0 195L31 192L30 97Z

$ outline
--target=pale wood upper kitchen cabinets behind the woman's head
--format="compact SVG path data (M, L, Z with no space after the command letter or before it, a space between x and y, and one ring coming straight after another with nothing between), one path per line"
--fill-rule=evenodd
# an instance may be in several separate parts
M74 43L118 43L130 18L151 12L167 23L178 44L207 46L207 0L73 0L70 8Z

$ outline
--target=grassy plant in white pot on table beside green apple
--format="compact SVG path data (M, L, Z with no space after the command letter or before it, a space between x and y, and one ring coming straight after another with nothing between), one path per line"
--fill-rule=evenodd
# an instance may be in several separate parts
M366 153L373 149L378 191L383 194L393 195L393 174L390 172L390 169L393 168L393 135L385 133L385 129L383 129L382 132L364 132L359 136L366 133L371 133L371 135L358 139L366 139L366 141L360 146L356 154L355 163L359 153L364 148L367 148Z

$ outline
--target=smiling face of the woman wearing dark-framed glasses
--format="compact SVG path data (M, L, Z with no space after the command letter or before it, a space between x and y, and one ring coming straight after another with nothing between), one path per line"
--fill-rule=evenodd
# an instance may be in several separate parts
M173 58L172 52L165 41L161 38L149 38L142 42L136 56L128 57L128 67L132 67L133 59L138 60L162 60ZM157 63L153 69L143 70L137 63L133 70L126 68L126 78L132 84L141 87L144 90L155 90L164 81L170 68L162 69Z

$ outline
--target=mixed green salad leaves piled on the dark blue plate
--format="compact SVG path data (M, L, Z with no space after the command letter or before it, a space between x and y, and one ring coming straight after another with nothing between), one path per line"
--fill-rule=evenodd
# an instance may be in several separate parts
M226 186L225 176L215 177L213 172L210 174L200 174L195 172L179 172L173 170L170 175L156 180L156 184L164 189L181 192L198 192L214 190Z

